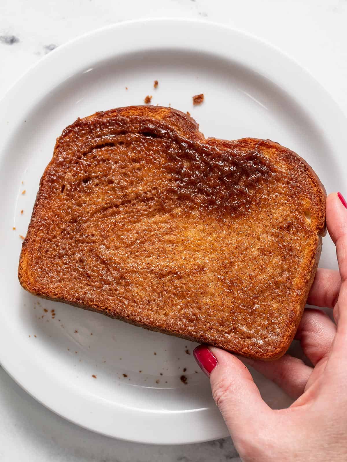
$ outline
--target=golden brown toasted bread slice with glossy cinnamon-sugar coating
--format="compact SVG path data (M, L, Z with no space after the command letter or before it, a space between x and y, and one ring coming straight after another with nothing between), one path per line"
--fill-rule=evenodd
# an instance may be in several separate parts
M270 140L205 139L180 111L78 119L56 141L19 261L40 297L253 358L285 353L325 190Z

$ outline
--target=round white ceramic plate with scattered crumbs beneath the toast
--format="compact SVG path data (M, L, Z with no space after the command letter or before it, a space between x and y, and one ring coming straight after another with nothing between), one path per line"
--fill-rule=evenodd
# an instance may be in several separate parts
M193 107L198 93L205 101ZM56 137L77 117L142 104L146 95L188 110L205 136L279 141L312 165L328 192L347 190L346 120L279 50L216 24L178 19L82 36L38 62L0 104L1 364L38 401L90 430L193 443L227 435L208 379L186 353L194 344L32 297L17 280L19 235ZM332 267L328 239L321 264ZM289 404L273 383L257 381L273 407Z

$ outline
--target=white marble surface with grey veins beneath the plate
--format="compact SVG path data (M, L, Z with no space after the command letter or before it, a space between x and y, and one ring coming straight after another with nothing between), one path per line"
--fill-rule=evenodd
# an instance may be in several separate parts
M346 0L1 0L0 98L41 56L89 30L127 19L204 18L259 36L291 55L347 113ZM0 368L0 460L238 461L230 438L187 446L118 441L38 404Z

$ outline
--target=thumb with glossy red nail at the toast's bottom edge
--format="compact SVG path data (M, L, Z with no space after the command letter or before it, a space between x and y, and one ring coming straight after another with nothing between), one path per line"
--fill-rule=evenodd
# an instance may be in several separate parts
M235 443L271 425L273 410L263 401L247 367L233 354L199 345L194 357L210 376L213 399Z

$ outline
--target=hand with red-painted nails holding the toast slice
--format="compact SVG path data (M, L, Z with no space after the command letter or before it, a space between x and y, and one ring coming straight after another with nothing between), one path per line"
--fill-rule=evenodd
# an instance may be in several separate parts
M194 350L244 462L347 460L347 204L340 193L327 197L326 221L339 272L318 268L307 303L334 309L335 323L306 309L295 337L313 367L289 354L264 362L212 346ZM296 401L271 409L243 363Z

